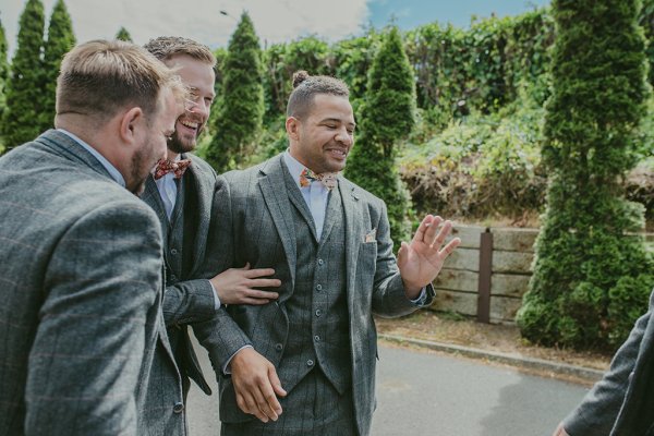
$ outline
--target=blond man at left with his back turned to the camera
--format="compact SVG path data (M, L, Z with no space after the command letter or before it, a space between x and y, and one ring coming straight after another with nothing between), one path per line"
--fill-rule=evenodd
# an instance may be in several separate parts
M141 47L80 45L57 130L0 158L0 434L184 434L161 231L134 195L184 94Z

